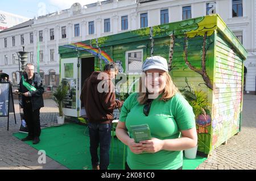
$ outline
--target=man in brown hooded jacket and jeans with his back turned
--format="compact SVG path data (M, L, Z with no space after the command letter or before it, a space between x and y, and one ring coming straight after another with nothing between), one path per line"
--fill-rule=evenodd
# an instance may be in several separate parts
M113 111L121 108L123 102L115 100L115 89L112 79L118 73L114 63L106 64L104 71L94 71L84 81L81 101L84 103L88 117L90 136L90 155L94 170L106 170L109 166L109 148L111 140L111 127ZM98 159L98 146L100 144L100 162Z

